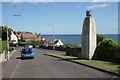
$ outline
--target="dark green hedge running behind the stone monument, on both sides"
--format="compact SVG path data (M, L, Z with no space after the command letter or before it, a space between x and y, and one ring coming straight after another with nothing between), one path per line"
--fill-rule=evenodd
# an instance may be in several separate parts
M71 45L67 46L66 55L80 58L81 47L75 48ZM120 45L112 39L102 39L102 41L99 42L92 59L120 63Z

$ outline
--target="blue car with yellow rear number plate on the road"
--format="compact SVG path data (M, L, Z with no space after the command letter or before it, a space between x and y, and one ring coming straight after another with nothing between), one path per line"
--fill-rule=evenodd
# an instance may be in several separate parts
M33 58L34 59L34 51L33 48L24 47L21 51L21 59L23 58Z

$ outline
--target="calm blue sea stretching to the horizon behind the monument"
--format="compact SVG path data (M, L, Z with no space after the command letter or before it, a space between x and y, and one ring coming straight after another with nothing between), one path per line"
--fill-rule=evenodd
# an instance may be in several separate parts
M105 39L113 39L118 43L118 34L99 34ZM53 40L53 35L41 35L42 38ZM81 45L81 34L59 34L55 35L54 39L60 39L64 44L76 44Z

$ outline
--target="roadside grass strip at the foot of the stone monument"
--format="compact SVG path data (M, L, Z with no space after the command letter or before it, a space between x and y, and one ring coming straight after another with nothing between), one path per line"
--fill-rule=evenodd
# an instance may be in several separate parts
M45 54L53 55L53 56L60 57L63 59L69 59L71 61L80 62L83 64L87 64L90 66L94 66L94 67L101 68L101 69L108 70L108 71L112 71L112 72L118 73L119 72L118 70L120 70L120 64L117 64L117 63L99 61L99 60L80 60L77 57L66 56L65 54L49 54L49 53L45 53Z

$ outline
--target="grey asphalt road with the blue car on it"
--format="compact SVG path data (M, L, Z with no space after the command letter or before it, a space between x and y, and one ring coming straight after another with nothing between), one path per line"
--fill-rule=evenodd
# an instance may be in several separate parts
M20 50L15 48L12 58L2 64L3 78L112 78L114 75L94 70L79 64L43 55L64 53L45 49L34 49L35 59L20 59Z

